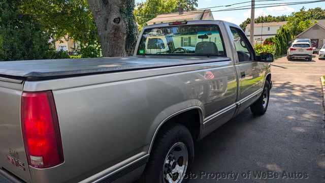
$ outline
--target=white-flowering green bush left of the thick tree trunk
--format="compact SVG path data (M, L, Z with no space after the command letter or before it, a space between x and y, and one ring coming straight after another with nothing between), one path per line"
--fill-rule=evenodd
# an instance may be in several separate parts
M102 48L98 41L94 41L91 44L88 43L80 43L80 46L76 50L78 55L83 58L93 58L93 57L101 57Z

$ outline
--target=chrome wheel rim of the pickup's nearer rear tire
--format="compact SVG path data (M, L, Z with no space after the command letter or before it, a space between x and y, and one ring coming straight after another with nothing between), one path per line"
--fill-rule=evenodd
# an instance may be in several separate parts
M163 182L181 182L188 164L188 151L183 142L175 143L168 151L163 167Z

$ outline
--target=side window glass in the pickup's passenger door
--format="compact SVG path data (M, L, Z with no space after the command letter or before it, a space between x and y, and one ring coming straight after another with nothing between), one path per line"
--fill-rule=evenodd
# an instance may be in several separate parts
M230 28L234 37L234 43L238 54L239 62L247 62L252 60L252 50L250 49L250 43L247 39L244 39L237 28Z

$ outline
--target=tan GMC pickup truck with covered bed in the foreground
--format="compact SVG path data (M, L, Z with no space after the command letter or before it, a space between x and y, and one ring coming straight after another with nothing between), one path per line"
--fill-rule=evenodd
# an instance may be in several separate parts
M0 62L0 176L183 182L194 140L248 107L267 111L270 62L238 25L215 20L146 26L131 57Z

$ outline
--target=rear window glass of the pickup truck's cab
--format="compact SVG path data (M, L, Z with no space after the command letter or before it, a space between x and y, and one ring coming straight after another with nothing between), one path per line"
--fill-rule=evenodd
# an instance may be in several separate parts
M146 29L138 55L189 54L225 56L217 25L181 25Z

